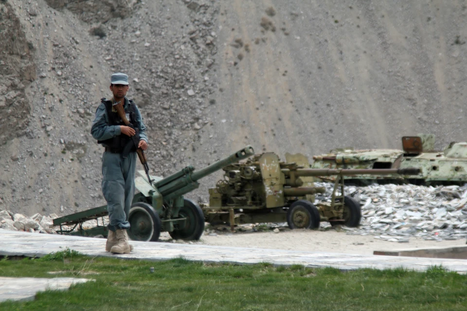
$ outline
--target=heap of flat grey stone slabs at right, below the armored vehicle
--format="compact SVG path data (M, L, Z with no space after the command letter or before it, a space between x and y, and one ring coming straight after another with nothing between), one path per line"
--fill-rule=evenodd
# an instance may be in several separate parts
M332 184L326 187L330 197ZM460 240L466 238L467 184L464 186L425 187L415 185L346 186L345 192L361 205L358 228L349 234L375 235L392 242L408 242L410 237L424 240ZM322 223L322 227L330 226Z

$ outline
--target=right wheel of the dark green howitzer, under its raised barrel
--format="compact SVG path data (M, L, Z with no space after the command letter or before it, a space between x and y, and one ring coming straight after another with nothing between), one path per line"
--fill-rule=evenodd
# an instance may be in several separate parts
M204 214L195 202L184 199L183 207L180 208L179 217L185 217L183 227L178 227L169 232L173 239L186 241L199 240L204 232Z

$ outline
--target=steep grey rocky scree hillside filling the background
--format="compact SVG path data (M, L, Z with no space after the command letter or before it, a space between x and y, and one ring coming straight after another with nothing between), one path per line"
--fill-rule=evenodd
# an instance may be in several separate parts
M466 13L464 0L0 0L0 209L105 203L89 131L115 71L158 175L246 144L311 157L465 140Z

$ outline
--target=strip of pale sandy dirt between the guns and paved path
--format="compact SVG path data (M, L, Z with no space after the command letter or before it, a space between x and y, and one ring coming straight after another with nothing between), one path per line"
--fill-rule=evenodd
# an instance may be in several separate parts
M169 235L161 234L160 241L170 240ZM409 242L398 243L377 239L375 236L351 235L345 231L290 230L281 228L277 233L264 232L218 232L203 234L198 243L215 246L252 247L285 249L306 252L348 253L372 255L373 251L395 251L414 248L442 248L465 246L466 240L425 241L409 238Z

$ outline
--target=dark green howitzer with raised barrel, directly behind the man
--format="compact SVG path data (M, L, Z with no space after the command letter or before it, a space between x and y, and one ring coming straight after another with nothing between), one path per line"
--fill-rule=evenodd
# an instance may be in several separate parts
M128 214L129 238L134 241L155 242L162 231L168 231L174 239L198 240L204 231L203 211L195 202L183 196L199 187L199 179L253 154L253 148L247 146L199 171L195 171L193 166L187 166L165 178L149 175L152 183L148 181L144 171L139 171L141 176L135 179L135 186L140 192L133 197ZM103 225L104 221L102 225L98 222L99 218L107 214L107 205L96 207L56 218L54 225L60 226L57 232L61 234L107 236L108 228ZM97 221L96 227L83 228L82 224L85 221L93 219ZM64 230L63 225L74 227Z

